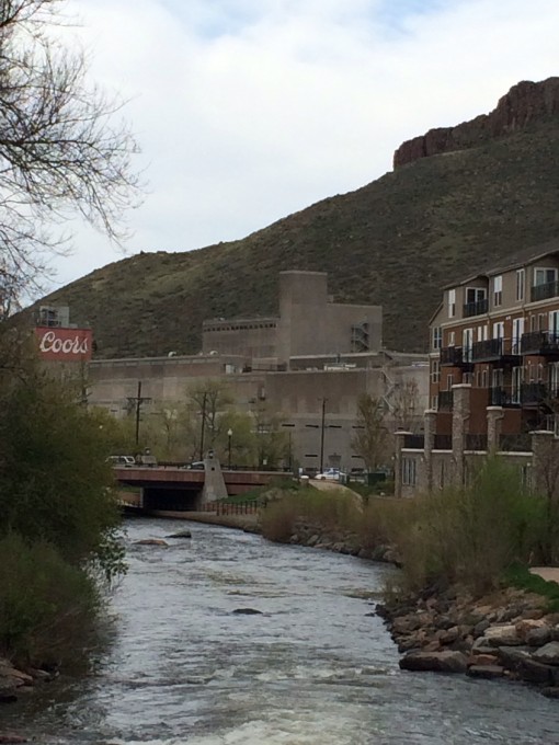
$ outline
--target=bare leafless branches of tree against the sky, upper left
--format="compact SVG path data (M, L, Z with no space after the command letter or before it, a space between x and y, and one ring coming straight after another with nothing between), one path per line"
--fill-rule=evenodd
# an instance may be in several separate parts
M80 51L54 33L62 0L0 2L0 311L61 250L54 226L80 215L111 239L139 196L122 103L87 83ZM58 30L59 31L59 30Z

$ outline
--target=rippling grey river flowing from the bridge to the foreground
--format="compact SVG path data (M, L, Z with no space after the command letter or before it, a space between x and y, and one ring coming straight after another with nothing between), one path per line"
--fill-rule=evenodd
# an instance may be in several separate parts
M192 540L135 545L185 525ZM372 614L389 566L170 520L130 520L126 540L96 674L3 707L2 730L59 745L559 744L559 701L399 671Z

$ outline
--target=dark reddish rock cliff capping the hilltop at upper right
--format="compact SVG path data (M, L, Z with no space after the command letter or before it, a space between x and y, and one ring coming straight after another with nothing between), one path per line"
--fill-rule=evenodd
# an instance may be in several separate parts
M526 129L532 123L559 115L559 78L541 82L524 80L503 95L497 108L456 127L437 127L407 140L395 152L393 167L420 158L466 150L491 139Z

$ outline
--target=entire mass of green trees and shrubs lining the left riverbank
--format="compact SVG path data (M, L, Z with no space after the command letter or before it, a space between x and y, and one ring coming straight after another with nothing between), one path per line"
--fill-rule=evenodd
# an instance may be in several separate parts
M0 656L81 664L124 570L105 417L31 353L0 375Z

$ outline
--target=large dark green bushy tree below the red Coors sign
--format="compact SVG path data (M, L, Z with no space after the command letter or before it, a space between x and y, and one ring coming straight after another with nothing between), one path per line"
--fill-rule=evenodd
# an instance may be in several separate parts
M0 380L0 538L46 541L73 565L119 566L119 514L106 463L104 412L30 363Z

